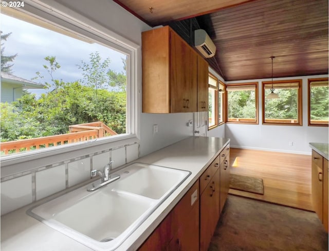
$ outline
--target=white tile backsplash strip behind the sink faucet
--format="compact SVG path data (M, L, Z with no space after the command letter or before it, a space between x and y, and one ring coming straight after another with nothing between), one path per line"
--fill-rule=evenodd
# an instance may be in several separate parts
M139 143L83 155L1 178L1 215L90 179L90 171L114 160L112 169L139 157Z

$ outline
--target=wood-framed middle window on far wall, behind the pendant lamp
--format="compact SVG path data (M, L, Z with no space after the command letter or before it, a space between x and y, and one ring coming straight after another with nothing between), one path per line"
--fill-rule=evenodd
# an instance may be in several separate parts
M278 98L269 99L273 85ZM262 82L263 124L302 125L302 80Z

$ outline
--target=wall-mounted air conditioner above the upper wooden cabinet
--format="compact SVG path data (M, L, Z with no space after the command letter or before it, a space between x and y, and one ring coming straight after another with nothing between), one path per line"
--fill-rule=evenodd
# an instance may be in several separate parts
M205 57L212 57L215 55L216 46L205 30L199 29L194 31L194 46Z

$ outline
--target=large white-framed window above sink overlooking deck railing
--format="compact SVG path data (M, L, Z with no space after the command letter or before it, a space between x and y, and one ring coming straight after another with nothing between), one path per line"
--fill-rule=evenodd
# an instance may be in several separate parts
M2 155L136 133L132 47L80 23L10 11L2 13Z

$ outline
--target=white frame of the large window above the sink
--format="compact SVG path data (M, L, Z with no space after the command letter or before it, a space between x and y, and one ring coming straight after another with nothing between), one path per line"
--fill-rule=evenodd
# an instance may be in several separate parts
M13 11L13 10L11 10ZM84 23L82 19L77 19L69 14L58 12L56 9L38 6L38 8L25 4L24 10L15 9L17 14L29 15L41 21L69 30L72 33L95 40L96 43L120 51L127 55L127 89L126 89L126 133L111 137L98 138L90 141L59 145L57 147L26 151L12 155L2 156L3 165L11 165L29 161L35 158L49 157L53 155L68 153L90 148L99 148L100 145L119 142L125 143L127 140L139 141L140 138L140 98L138 94L138 62L141 57L141 48L131 40L116 34L94 22ZM6 13L5 13L6 14ZM13 15L10 12L8 15ZM15 17L17 18L17 17Z

